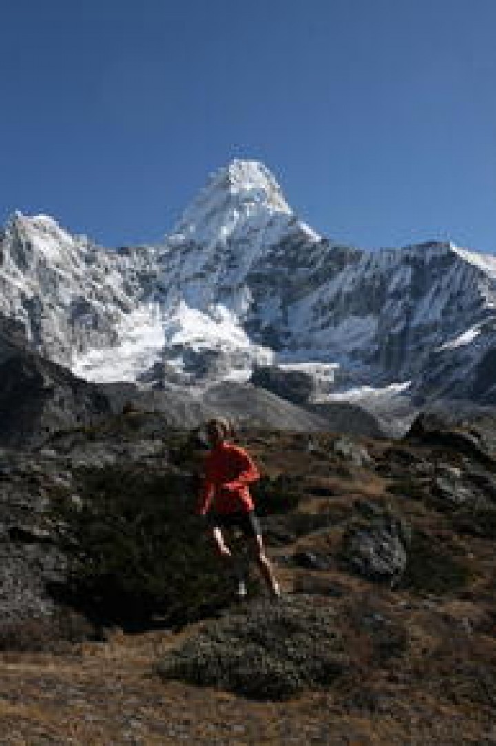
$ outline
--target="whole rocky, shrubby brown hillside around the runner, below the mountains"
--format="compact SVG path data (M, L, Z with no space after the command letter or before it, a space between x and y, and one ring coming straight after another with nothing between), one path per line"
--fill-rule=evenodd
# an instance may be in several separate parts
M6 743L490 744L496 461L447 432L242 428L277 602L254 567L236 600L192 515L195 433L133 412L4 452Z

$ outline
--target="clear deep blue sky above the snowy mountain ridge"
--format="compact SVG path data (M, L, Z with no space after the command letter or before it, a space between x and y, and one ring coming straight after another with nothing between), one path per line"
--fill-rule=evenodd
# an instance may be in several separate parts
M0 222L158 241L233 157L313 228L496 252L496 0L1 0Z

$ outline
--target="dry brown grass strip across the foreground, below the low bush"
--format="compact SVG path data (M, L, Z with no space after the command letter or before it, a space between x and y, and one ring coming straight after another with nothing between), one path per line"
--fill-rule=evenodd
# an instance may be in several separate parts
M475 746L492 728L483 706L442 701L426 680L406 689L394 669L383 681L362 673L348 691L284 704L164 685L154 662L176 642L166 633L115 633L82 646L79 659L18 653L16 662L2 660L0 744Z

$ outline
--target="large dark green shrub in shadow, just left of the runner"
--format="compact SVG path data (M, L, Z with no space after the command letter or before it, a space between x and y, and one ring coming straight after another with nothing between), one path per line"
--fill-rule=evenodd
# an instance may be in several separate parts
M80 474L82 507L57 501L70 600L97 621L183 624L230 600L188 474L117 466Z

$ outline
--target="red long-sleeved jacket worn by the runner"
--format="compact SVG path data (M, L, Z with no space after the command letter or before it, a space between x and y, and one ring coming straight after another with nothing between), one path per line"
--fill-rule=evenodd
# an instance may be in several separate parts
M219 443L205 460L197 513L205 515L210 506L216 513L248 513L254 509L248 484L257 479L260 474L246 451L232 443Z

